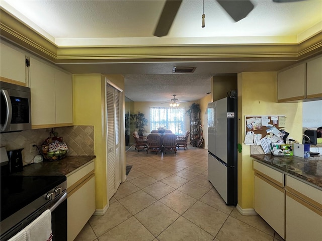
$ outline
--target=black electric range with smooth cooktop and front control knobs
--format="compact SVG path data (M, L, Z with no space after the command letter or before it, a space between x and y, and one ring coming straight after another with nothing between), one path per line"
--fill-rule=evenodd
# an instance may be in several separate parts
M66 240L66 196L66 176L24 176L2 172L1 240L12 237L46 209L52 209L53 240ZM56 211L57 202L62 203L59 204L62 211ZM58 229L63 231L63 237L58 236Z

